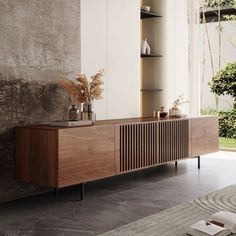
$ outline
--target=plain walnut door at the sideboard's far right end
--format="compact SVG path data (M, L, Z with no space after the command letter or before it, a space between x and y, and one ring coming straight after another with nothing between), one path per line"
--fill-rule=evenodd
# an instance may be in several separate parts
M218 118L191 119L191 156L217 152L219 148Z

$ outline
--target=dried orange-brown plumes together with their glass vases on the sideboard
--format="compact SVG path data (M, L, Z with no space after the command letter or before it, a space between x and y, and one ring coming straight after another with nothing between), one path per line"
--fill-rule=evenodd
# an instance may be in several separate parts
M73 104L83 103L83 111L81 114L82 120L92 120L95 122L95 113L92 110L92 103L94 100L102 98L102 77L104 76L104 70L98 71L92 75L89 79L86 75L78 75L75 80L62 80L60 84L67 91L71 97ZM75 118L76 106L72 105L72 109L69 112L70 120ZM70 114L71 113L71 114Z

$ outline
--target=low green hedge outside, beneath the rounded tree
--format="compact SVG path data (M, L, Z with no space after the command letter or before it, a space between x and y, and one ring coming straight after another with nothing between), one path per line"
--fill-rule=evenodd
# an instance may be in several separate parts
M236 138L236 109L219 113L220 137Z

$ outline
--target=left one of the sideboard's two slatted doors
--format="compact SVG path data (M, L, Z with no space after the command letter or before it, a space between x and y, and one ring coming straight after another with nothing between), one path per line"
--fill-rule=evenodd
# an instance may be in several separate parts
M120 171L156 165L157 122L120 126Z

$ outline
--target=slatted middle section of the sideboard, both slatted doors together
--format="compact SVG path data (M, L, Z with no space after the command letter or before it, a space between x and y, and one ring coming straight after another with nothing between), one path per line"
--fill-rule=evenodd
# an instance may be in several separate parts
M188 120L120 126L120 171L130 171L188 157Z

